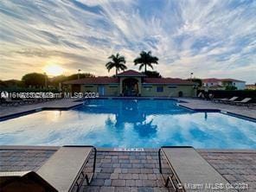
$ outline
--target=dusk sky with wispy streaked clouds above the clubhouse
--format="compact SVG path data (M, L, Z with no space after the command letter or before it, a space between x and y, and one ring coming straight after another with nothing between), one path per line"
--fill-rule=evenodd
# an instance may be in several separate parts
M256 0L2 0L0 80L23 74L111 75L111 54L127 67L142 50L164 77L256 82Z

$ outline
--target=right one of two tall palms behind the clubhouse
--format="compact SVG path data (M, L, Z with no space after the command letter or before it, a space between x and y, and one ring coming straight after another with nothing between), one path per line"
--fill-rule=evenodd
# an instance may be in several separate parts
M153 66L152 66L152 63L154 64L158 64L158 58L155 57L155 56L152 56L151 55L151 52L145 52L145 51L142 51L140 52L139 54L140 56L137 57L133 62L134 62L134 65L138 65L140 64L139 66L139 70L142 69L142 67L144 67L144 72L147 71L147 66L151 67L153 69Z

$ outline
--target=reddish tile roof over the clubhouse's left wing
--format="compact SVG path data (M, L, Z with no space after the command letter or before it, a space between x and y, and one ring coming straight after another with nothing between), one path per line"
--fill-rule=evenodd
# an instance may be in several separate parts
M118 82L118 78L113 77L88 77L80 80L67 80L63 84L116 84Z

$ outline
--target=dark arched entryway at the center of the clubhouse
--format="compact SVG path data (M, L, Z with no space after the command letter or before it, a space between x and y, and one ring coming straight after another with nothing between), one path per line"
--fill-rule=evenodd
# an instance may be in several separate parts
M123 90L124 96L138 96L138 80L134 78L127 78L123 80Z

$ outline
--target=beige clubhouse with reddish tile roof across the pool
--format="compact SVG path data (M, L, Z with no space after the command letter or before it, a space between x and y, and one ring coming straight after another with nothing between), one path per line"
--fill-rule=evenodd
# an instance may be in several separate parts
M73 93L99 93L99 96L194 97L196 83L173 78L148 78L134 70L117 77L94 77L63 83Z

